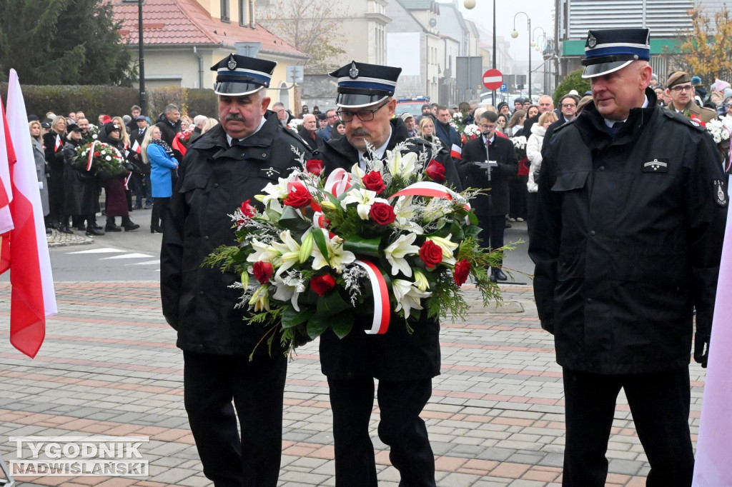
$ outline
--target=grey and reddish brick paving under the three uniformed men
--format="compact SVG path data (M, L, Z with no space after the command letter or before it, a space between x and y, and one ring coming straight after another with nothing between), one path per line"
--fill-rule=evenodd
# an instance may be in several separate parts
M442 327L442 374L427 420L438 485L539 487L561 483L564 445L561 371L539 328L529 286L502 285L504 305L482 308L477 292L465 320ZM9 437L149 437L140 449L148 477L18 477L19 486L209 486L183 406L182 353L160 314L155 282L61 282L61 312L48 320L34 360L8 341L10 286L0 284L0 452ZM703 370L692 365L692 433L698 430ZM379 485L397 471L376 437ZM280 486L333 486L331 414L317 342L290 363L285 388ZM608 450L610 486L645 485L648 464L630 412L619 399Z

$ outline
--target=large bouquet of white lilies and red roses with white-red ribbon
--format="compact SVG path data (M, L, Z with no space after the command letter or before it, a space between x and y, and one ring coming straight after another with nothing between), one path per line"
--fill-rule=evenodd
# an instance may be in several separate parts
M338 169L326 180L323 163L300 154L302 167L255 197L264 211L247 200L231 215L238 244L220 246L203 265L241 275L238 306L250 310L246 322L270 325L270 351L277 336L291 352L328 328L341 338L364 333L352 330L356 306L373 310L365 333L385 333L392 310L409 331L422 313L463 316L468 276L486 306L500 300L486 268L504 249L478 246L468 205L477 191L438 184L444 167L407 150L400 144L365 170Z

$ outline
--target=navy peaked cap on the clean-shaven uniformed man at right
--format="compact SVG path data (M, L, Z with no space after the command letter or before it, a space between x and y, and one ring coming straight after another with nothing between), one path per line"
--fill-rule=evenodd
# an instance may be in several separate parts
M623 69L632 61L651 59L649 29L591 29L585 42L582 78L595 78Z

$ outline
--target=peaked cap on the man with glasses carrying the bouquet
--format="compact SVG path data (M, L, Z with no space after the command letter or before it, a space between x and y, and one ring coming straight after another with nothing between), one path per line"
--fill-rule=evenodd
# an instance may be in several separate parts
M393 97L401 68L351 61L330 73L338 79L336 105L360 108Z

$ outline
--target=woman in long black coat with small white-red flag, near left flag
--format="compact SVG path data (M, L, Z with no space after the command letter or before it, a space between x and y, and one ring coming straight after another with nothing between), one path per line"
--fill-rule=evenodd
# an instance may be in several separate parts
M58 116L51 123L51 130L43 136L45 159L51 175L48 178L48 226L58 228L59 232L73 233L69 222L63 221L64 212L64 140L66 137L66 118Z

